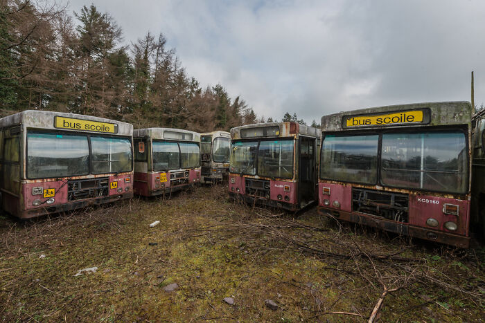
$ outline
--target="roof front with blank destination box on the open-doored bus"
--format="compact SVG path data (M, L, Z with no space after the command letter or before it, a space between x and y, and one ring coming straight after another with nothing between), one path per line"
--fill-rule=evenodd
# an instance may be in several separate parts
M251 131L251 129L266 129L264 131ZM241 133L241 131L243 133ZM269 131L269 132L268 132ZM277 131L277 132L276 132ZM234 127L231 129L232 139L244 139L244 138L265 138L265 137L290 137L295 134L301 134L305 136L320 138L321 133L317 128L306 126L305 124L299 124L298 122L267 122L267 123L255 123L246 124L245 126Z

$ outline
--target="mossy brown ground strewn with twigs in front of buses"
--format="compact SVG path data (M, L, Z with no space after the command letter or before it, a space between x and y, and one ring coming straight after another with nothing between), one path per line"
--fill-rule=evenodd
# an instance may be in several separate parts
M485 320L483 246L248 207L222 186L0 216L0 242L2 322Z

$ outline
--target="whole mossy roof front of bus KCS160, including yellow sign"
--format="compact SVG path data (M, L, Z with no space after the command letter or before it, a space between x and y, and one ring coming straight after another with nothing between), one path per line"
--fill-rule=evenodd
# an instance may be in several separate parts
M470 124L470 102L425 102L344 111L321 117L323 131Z

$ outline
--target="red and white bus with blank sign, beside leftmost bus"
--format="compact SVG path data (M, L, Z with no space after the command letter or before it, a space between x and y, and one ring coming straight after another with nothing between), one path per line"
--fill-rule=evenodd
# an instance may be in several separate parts
M155 196L200 183L200 133L182 129L136 129L134 190Z

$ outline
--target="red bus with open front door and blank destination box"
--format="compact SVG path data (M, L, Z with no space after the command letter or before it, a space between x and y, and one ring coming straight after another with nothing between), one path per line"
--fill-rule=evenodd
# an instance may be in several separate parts
M319 138L297 122L231 129L229 196L291 211L317 201Z

